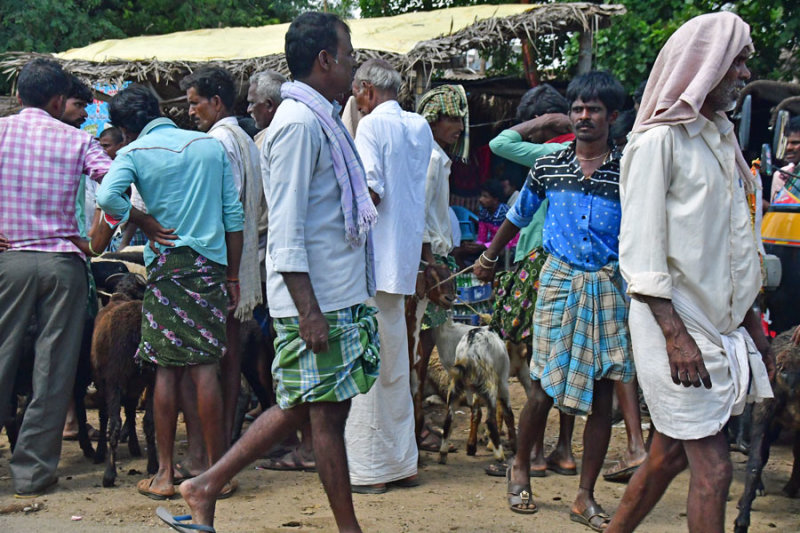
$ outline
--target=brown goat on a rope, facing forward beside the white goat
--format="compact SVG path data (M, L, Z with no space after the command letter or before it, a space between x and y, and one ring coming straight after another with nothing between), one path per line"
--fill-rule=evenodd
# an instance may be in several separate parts
M456 300L456 286L452 279L448 280L452 273L447 266L429 264L422 274L422 276L417 276L414 294L406 297L405 309L408 360L411 367L411 392L414 401L414 434L417 437L417 445L422 441L422 429L425 425L424 389L430 361L430 352L418 350L417 346L422 316L425 314L428 302L449 309ZM418 354L419 357L417 357Z

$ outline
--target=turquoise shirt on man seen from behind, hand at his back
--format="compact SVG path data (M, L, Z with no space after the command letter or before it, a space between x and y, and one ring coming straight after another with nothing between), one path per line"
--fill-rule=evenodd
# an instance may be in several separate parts
M242 230L244 211L219 141L179 129L168 118L152 120L117 153L97 191L97 204L127 219L131 202L125 191L131 184L148 213L163 227L175 228L175 246L189 246L216 263L228 264L225 233ZM145 264L155 257L145 246Z

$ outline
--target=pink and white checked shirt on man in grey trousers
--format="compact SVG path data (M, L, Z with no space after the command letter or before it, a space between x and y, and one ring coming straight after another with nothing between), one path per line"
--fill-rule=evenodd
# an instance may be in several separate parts
M67 237L79 235L81 174L99 181L109 166L91 135L43 109L0 118L0 233L11 249L80 253Z

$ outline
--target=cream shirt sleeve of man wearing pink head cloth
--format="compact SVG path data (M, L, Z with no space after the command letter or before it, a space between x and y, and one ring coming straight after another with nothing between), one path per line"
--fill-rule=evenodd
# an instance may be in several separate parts
M672 299L666 207L672 150L669 128L655 128L629 144L622 158L619 263L629 294Z

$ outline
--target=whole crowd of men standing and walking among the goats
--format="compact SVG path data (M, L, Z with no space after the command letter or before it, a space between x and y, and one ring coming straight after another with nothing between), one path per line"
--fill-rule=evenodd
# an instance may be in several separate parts
M575 77L565 96L530 91L524 120L490 143L530 172L519 191L483 187L473 243L454 236L449 206L452 162L469 154L464 88L440 85L416 113L403 110L401 75L380 59L356 68L349 28L332 14L295 19L285 52L292 81L271 71L249 80L255 139L219 67L180 82L198 131L178 128L150 89L131 85L111 100L113 127L97 139L78 129L92 99L83 82L44 59L20 72L23 110L0 119L2 394L13 390L31 317L37 324L33 394L10 460L16 495L57 482L92 313L87 260L115 235L117 246L144 235L136 358L156 368L159 467L138 492L179 494L191 517L159 516L176 530L214 531L215 502L235 493L234 476L284 446L273 467L315 468L339 530L360 531L353 492L420 483L409 353L430 354L448 313L418 293L418 279L437 263L455 272L458 249L480 280L498 274L492 328L531 358L516 455L486 469L506 478L509 509L537 512L531 478L552 470L578 479L571 520L632 531L688 467L690 531L722 531L731 482L722 429L748 394L770 397L774 373L752 309L760 183L725 115L750 76L747 24L722 12L681 26L638 111L623 111L627 95L607 72ZM516 266L500 274L509 247ZM411 340L409 297L420 319ZM274 331L276 404L232 442L239 330L254 315ZM654 428L647 446L639 387ZM595 484L615 394L628 446L603 475L632 478L612 517ZM545 457L553 406L559 441ZM179 411L189 453L177 464ZM575 415L587 416L580 468Z

